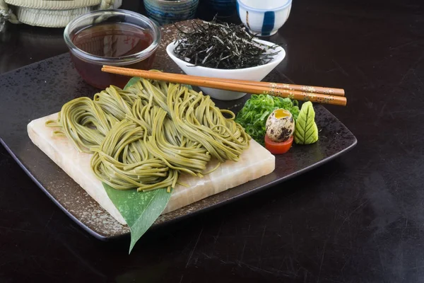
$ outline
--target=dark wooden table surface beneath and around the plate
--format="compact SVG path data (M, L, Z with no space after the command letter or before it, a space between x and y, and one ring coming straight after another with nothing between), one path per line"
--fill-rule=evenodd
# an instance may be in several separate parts
M0 73L66 52L62 32L8 25ZM346 89L348 107L327 108L353 151L127 255L128 239L89 236L0 147L0 282L423 282L422 1L295 0L271 40L287 45L282 77Z

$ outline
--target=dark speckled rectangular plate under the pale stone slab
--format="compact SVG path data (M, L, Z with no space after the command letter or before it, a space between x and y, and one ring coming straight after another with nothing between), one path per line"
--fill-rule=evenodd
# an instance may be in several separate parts
M163 38L163 45L172 40ZM163 47L158 51L155 67L179 72L167 59ZM267 81L276 81L271 73ZM129 233L95 202L78 184L59 168L29 139L27 125L31 120L58 112L61 105L80 96L93 97L98 92L78 76L69 54L8 72L0 76L1 144L23 170L71 219L96 238L107 240ZM231 101L216 101L220 108L237 112L249 96ZM355 136L322 105L315 105L319 141L309 146L293 146L287 154L276 156L273 173L234 187L204 200L160 216L155 224L166 224L204 212L232 200L259 192L266 187L293 178L345 153L357 143Z

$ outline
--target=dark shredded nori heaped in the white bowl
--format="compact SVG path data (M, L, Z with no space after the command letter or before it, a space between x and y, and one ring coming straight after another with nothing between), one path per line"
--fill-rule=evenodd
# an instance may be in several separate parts
M177 46L179 59L190 64L214 69L243 69L269 63L278 52L278 45L267 46L254 41L244 25L211 22L192 23L191 31L179 28Z

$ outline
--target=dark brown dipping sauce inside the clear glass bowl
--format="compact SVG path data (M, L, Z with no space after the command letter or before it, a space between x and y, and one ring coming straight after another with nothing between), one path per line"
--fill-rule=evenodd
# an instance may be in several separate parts
M153 42L150 33L128 23L105 23L89 26L78 31L71 39L79 49L100 57L119 59L145 50ZM84 81L97 88L107 88L110 85L123 88L131 79L129 76L102 72L101 64L79 59L71 52L73 64ZM133 69L151 69L155 52L148 58L121 67Z

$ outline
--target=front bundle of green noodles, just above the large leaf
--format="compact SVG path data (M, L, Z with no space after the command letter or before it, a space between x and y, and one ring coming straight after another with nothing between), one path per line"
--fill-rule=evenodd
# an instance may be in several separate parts
M146 129L122 120L115 125L99 149L94 149L91 166L95 175L117 190L175 187L178 173L146 149Z

